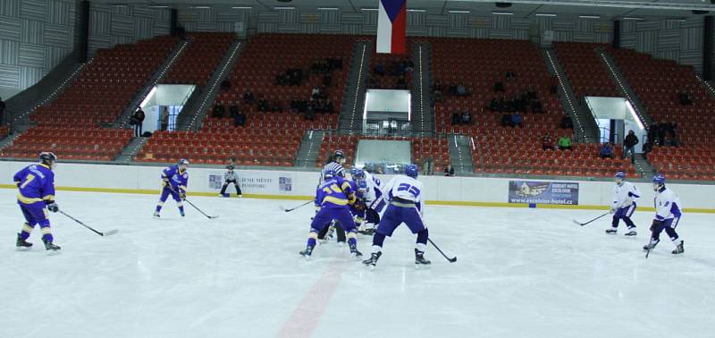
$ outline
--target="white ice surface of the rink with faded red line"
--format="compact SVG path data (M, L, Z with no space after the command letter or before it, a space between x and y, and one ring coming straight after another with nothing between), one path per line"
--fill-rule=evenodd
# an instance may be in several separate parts
M62 254L39 231L15 251L23 220L14 190L0 190L0 337L713 337L715 224L686 214L686 253L663 233L651 257L652 212L639 235L606 235L601 211L427 206L429 270L412 264L401 227L369 271L334 242L304 249L312 207L301 201L189 197L208 220L157 196L59 191L53 214ZM621 225L622 226L622 225ZM366 256L370 239L358 238Z

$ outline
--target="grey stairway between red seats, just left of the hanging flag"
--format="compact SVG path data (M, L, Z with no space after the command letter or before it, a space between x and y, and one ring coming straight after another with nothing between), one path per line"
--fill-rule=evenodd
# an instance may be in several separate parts
M373 42L358 40L353 46L348 83L345 86L339 128L341 133L359 133L362 129L365 105L366 80L370 74L370 58Z

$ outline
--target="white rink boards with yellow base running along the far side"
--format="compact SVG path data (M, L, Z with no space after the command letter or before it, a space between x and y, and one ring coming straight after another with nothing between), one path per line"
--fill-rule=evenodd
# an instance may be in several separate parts
M0 162L0 188L13 189L13 174L27 162ZM57 190L156 194L161 167L138 165L61 164L56 169ZM312 199L318 173L269 170L238 170L244 197L258 199ZM189 196L215 196L223 182L222 169L189 168ZM379 175L383 181L389 175ZM420 176L428 204L477 207L546 207L606 209L613 194L612 182L578 183L577 205L509 203L509 178ZM532 181L532 180L518 180ZM533 180L541 181L541 180ZM652 210L654 196L649 183L636 183L643 193L639 207ZM669 184L689 212L715 213L715 186ZM229 191L233 188L230 187ZM235 190L234 190L235 191Z

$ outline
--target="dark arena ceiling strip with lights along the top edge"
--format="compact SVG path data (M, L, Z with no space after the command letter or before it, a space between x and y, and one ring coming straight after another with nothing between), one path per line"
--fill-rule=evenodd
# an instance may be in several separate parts
M190 7L254 11L276 11L281 7L296 10L338 10L356 13L377 7L377 0L93 0L102 4L146 4L185 9ZM601 19L689 19L715 12L715 0L512 0L507 8L497 7L493 0L408 0L408 10L428 14L450 11L476 14L502 13L527 18L535 15L557 17L598 16ZM238 7L238 8L237 8ZM250 7L250 8L248 8ZM277 9L278 8L278 9ZM283 9L290 10L290 9Z

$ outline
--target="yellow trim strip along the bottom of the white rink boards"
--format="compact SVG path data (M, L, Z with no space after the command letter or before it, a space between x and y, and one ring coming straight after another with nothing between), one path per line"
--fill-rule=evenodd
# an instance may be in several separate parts
M0 189L17 189L13 184L0 184ZM83 191L83 192L110 192L124 194L144 194L155 195L159 190L146 189L114 189L114 188L82 188L82 187L57 187L55 190L60 191ZM190 192L188 196L206 196L214 197L215 192ZM245 199L290 199L290 200L313 200L315 196L307 195L271 195L271 194L243 194ZM529 207L528 204L506 203L506 202L466 202L458 200L428 200L425 201L428 205L433 206L459 206L459 207ZM568 205L552 205L539 204L536 207L543 209L573 209L573 210L608 210L608 206L568 206ZM638 207L638 210L655 211L654 207ZM683 209L687 213L700 214L715 214L715 209L686 207Z

